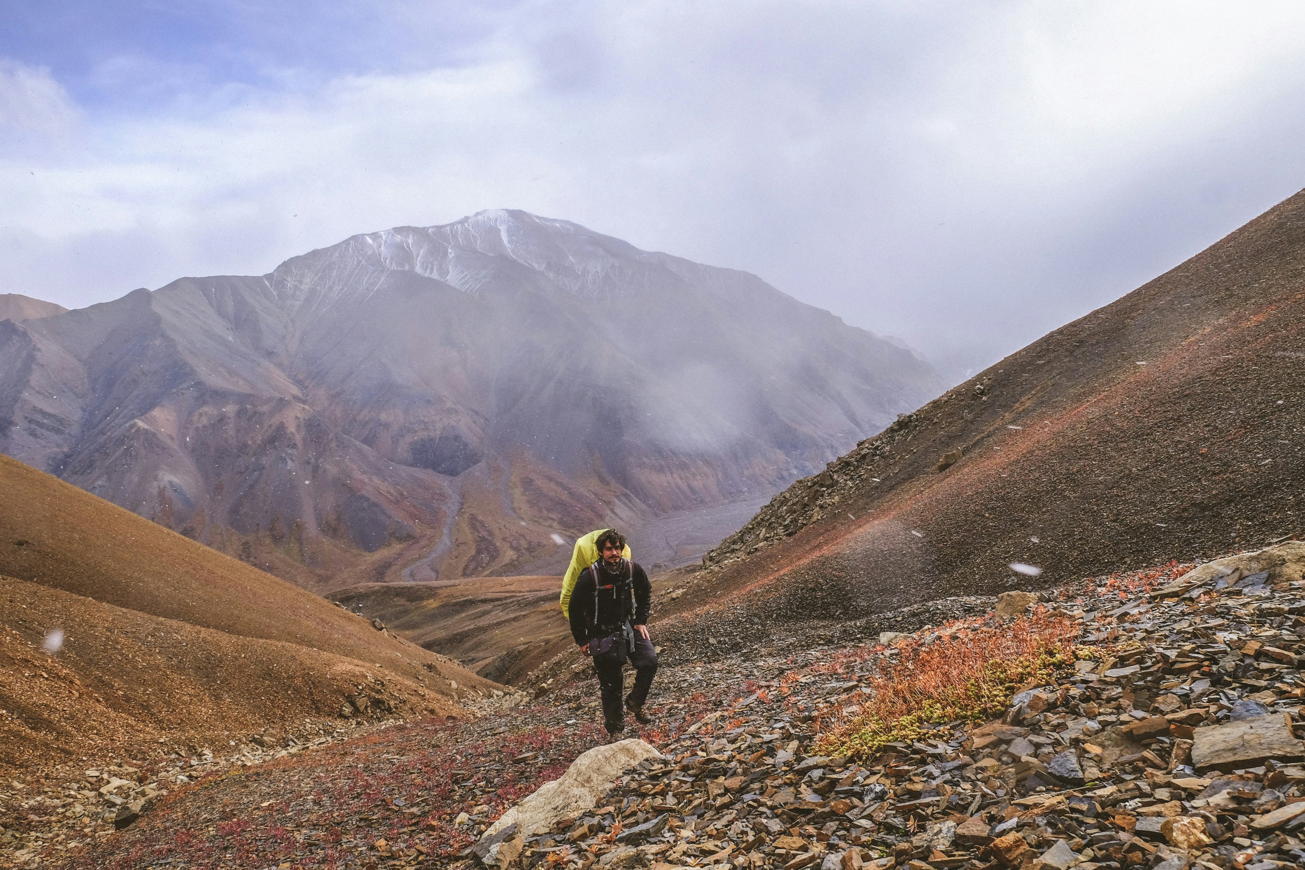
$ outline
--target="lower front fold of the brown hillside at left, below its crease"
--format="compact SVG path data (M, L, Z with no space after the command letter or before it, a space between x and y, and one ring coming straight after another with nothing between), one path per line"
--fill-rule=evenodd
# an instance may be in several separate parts
M459 712L446 691L428 691L375 663L162 620L9 577L0 577L0 770L106 751L147 758L161 737L226 746L227 736L339 719L341 706L359 694L395 715ZM47 655L42 642L52 627L65 642Z

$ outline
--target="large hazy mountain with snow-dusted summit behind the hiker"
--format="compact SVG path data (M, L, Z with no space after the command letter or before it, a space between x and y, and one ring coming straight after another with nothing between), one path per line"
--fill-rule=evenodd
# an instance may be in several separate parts
M938 389L753 275L521 211L0 321L0 450L315 590L538 571Z

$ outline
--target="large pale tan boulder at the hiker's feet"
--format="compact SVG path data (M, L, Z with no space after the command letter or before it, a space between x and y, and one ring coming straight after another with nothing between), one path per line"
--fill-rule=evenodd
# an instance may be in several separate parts
M551 831L557 819L573 819L591 810L612 783L639 762L663 758L662 753L638 738L595 746L572 762L560 779L544 783L517 806L504 813L491 824L482 841L491 840L499 831L515 826L521 836Z

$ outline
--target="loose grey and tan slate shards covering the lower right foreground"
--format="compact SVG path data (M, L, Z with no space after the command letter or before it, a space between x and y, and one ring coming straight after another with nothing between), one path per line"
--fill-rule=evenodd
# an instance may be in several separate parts
M1305 582L1298 561L1262 561L1062 590L1052 608L1082 634L1061 680L1018 693L1001 719L937 724L863 758L817 754L822 717L846 716L895 647L753 661L757 690L663 743L664 760L579 818L466 862L1300 866Z

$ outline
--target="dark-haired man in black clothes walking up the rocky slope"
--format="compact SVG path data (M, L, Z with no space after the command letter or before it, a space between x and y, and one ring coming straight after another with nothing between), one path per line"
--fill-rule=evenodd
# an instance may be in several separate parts
M594 539L598 558L576 579L568 618L581 655L592 656L603 695L603 727L608 734L625 730L625 711L639 723L652 719L643 711L656 650L649 637L652 586L637 562L626 558L625 536L607 528ZM634 665L634 687L621 703L621 665Z

